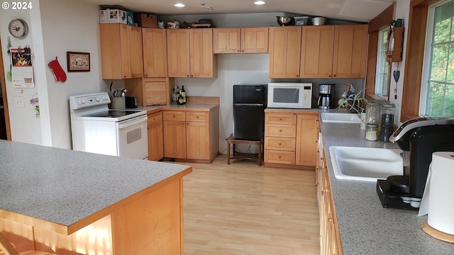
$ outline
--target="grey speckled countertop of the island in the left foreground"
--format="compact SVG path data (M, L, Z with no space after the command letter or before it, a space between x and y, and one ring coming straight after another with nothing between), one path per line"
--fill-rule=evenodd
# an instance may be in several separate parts
M65 227L192 171L180 164L6 140L0 140L0 159L0 217L13 212Z

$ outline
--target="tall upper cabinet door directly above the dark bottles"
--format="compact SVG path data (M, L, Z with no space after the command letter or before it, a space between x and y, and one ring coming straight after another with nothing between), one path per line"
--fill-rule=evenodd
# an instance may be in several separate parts
M167 30L167 67L169 77L190 77L189 29Z

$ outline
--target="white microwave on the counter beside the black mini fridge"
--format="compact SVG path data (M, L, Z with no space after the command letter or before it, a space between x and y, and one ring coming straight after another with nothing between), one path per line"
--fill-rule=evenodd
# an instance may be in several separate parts
M268 84L269 108L306 108L312 106L311 83L281 83Z

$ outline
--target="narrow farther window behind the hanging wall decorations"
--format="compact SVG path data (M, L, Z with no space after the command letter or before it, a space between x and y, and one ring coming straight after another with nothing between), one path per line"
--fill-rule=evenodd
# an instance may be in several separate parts
M377 69L375 71L375 95L388 98L389 91L389 62L386 61L389 27L378 32Z

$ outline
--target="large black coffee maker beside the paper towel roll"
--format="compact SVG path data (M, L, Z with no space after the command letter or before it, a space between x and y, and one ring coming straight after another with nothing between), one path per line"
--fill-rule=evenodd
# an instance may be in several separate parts
M383 207L419 210L433 152L454 152L454 119L407 120L389 137L403 150L404 175L377 180Z

